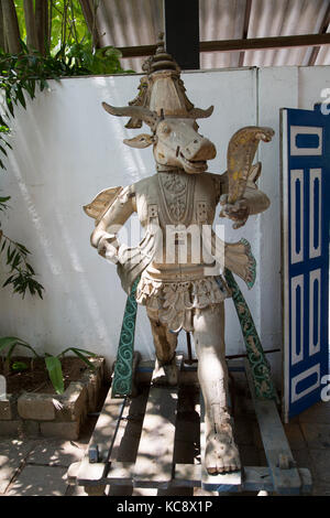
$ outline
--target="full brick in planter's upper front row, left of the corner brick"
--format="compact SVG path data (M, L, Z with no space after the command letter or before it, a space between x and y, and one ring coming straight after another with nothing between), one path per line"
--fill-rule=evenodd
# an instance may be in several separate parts
M43 393L23 393L18 400L18 411L22 419L51 421L55 419L53 398Z

